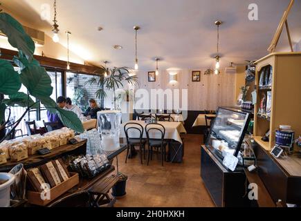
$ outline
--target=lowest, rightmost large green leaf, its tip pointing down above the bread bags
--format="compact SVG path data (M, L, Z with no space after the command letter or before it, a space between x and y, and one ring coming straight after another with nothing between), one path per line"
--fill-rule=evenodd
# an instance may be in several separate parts
M57 108L57 115L62 120L64 126L69 127L78 133L84 132L84 127L82 126L82 122L74 112L66 111L62 108Z

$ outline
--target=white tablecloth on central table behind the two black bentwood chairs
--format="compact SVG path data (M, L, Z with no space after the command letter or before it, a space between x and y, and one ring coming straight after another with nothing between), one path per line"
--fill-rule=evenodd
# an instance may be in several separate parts
M129 122L138 123L143 126L143 138L147 138L145 133L145 126L147 125L144 121L141 120L131 120ZM129 123L127 122L127 123ZM187 133L183 124L181 122L158 122L158 124L162 124L165 127L165 136L164 139L168 140L176 140L177 142L182 143L180 133ZM125 124L121 125L120 128L120 137L125 138L124 131ZM134 126L134 125L133 125ZM161 126L152 125L152 127L162 128ZM137 126L137 128L139 128ZM159 131L149 131L149 136L154 139L160 139L161 133ZM129 130L129 137L139 137L139 132L136 130Z

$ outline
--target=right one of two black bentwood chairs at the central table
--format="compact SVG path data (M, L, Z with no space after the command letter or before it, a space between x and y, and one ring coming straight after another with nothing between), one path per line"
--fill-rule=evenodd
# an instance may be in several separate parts
M145 126L148 143L147 166L149 165L149 158L152 160L153 148L160 149L161 164L163 166L163 159L166 160L166 146L167 141L164 140L165 127L162 124L147 124ZM160 138L154 138L153 134L158 133Z

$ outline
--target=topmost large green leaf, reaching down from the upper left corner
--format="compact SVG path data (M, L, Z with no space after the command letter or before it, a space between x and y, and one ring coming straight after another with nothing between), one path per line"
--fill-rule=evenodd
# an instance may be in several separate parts
M22 50L31 60L35 52L35 43L16 19L1 12L0 30L8 37L8 42L12 47Z

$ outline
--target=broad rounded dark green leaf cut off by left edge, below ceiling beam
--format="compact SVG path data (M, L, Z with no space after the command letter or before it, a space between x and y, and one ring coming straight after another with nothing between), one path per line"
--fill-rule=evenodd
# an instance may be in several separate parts
M0 60L0 93L12 95L21 88L19 74L12 64L6 60Z

